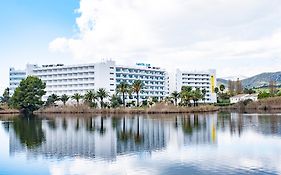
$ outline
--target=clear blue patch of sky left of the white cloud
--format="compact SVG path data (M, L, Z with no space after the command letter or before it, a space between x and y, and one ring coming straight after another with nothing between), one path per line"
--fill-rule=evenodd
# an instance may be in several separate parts
M48 51L48 44L60 35L75 31L74 9L78 0L3 0L0 5L0 92L8 86L9 67L26 63L71 62Z

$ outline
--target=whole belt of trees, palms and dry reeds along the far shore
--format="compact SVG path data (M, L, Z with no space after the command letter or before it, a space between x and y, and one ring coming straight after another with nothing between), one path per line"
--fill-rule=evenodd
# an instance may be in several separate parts
M210 101L206 98L210 91L206 89L182 86L180 92L174 91L169 96L144 98L140 94L146 89L145 86L141 80L135 80L131 84L124 81L117 85L114 94L110 94L105 88L99 88L71 96L51 94L46 101L42 101L46 94L46 84L38 77L28 76L20 82L11 97L9 88L5 89L0 98L0 114L169 114L219 110L281 110L281 93L275 88L274 82L270 84L269 92L259 93L258 101L245 100L237 104L231 104L230 97L241 93L255 93L253 89L243 89L239 79L236 82L229 81L228 91L224 85L214 89L218 95L215 104L206 103Z

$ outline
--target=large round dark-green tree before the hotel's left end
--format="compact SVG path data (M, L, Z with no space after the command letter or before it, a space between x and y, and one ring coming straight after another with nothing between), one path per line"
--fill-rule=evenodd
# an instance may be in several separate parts
M25 112L32 112L43 104L46 84L36 76L28 76L20 82L12 98L11 106Z

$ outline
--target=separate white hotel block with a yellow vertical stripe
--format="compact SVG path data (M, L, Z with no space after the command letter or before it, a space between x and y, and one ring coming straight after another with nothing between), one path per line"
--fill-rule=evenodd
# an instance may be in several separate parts
M176 91L180 92L182 86L190 86L193 89L206 89L207 93L205 101L207 103L215 103L217 101L215 87L216 87L216 71L181 71L176 72ZM203 101L201 101L203 102Z

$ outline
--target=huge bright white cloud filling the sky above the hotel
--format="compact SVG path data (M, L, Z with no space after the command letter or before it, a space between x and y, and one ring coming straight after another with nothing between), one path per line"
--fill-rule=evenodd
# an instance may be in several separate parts
M280 8L279 0L80 0L78 32L49 48L91 62L146 61L221 75L275 71Z

